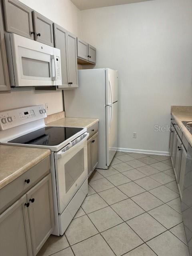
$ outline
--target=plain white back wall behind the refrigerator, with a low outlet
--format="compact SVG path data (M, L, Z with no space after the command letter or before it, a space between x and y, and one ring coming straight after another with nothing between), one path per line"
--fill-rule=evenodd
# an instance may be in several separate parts
M96 68L119 70L120 148L168 151L171 105L192 105L192 1L154 0L81 11ZM137 138L132 133L137 132Z

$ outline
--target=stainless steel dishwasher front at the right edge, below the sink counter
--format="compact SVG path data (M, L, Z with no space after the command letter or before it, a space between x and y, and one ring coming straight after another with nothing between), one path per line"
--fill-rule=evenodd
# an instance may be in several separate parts
M181 210L190 256L192 256L192 147L190 144L187 150Z

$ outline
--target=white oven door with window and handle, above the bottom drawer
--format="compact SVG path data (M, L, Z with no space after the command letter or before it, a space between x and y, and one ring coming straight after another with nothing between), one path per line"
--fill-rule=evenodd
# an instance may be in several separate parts
M68 146L54 153L56 166L56 183L58 212L61 214L71 198L88 176L87 138L89 134L68 149ZM84 138L83 138L84 137ZM74 140L76 141L76 140ZM73 142L72 142L73 144Z

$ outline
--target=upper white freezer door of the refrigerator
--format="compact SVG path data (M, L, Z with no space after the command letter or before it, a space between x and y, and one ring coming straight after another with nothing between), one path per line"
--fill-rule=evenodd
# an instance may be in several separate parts
M118 101L118 71L106 68L106 105Z

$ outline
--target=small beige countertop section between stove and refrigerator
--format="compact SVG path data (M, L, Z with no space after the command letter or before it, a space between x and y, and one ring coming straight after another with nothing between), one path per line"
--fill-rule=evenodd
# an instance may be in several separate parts
M68 127L82 127L90 128L92 125L98 122L95 118L75 118L75 117L64 117L54 122L48 123L48 126L68 126Z

